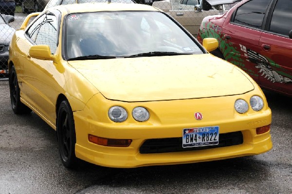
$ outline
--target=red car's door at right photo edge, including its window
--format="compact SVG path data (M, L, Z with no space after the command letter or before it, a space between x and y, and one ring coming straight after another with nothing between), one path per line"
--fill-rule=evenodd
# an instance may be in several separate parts
M292 93L292 1L276 0L259 44L259 84L283 93Z

